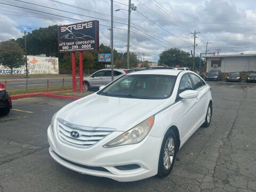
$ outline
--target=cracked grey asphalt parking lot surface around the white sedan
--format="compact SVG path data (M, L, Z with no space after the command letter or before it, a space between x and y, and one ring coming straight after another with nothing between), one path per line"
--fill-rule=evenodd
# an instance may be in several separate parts
M71 100L13 100L10 115L0 117L0 191L256 191L256 84L209 84L210 127L185 143L168 177L127 183L71 171L50 157L47 127Z

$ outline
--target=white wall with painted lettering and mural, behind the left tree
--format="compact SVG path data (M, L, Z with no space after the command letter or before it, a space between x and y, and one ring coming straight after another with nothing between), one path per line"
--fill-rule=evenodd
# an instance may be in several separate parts
M52 57L27 56L28 74L59 74L59 60ZM11 69L0 65L0 75L11 74ZM26 65L14 68L13 74L26 74Z

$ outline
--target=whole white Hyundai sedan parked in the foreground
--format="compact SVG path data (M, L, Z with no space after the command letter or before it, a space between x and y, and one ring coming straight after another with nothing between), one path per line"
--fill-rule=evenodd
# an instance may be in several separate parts
M80 173L165 177L181 146L211 123L211 87L192 71L137 71L100 88L60 109L47 130L52 158Z

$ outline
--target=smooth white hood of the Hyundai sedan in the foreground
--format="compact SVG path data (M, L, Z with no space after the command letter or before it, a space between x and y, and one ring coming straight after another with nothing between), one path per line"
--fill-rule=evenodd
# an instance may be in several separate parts
M170 104L170 98L132 99L94 93L63 107L57 118L76 125L127 131Z

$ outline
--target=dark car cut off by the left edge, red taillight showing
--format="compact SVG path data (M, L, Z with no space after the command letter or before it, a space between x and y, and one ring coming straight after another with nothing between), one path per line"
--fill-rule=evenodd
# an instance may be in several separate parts
M11 97L5 90L4 85L0 83L0 115L8 115L11 108Z

